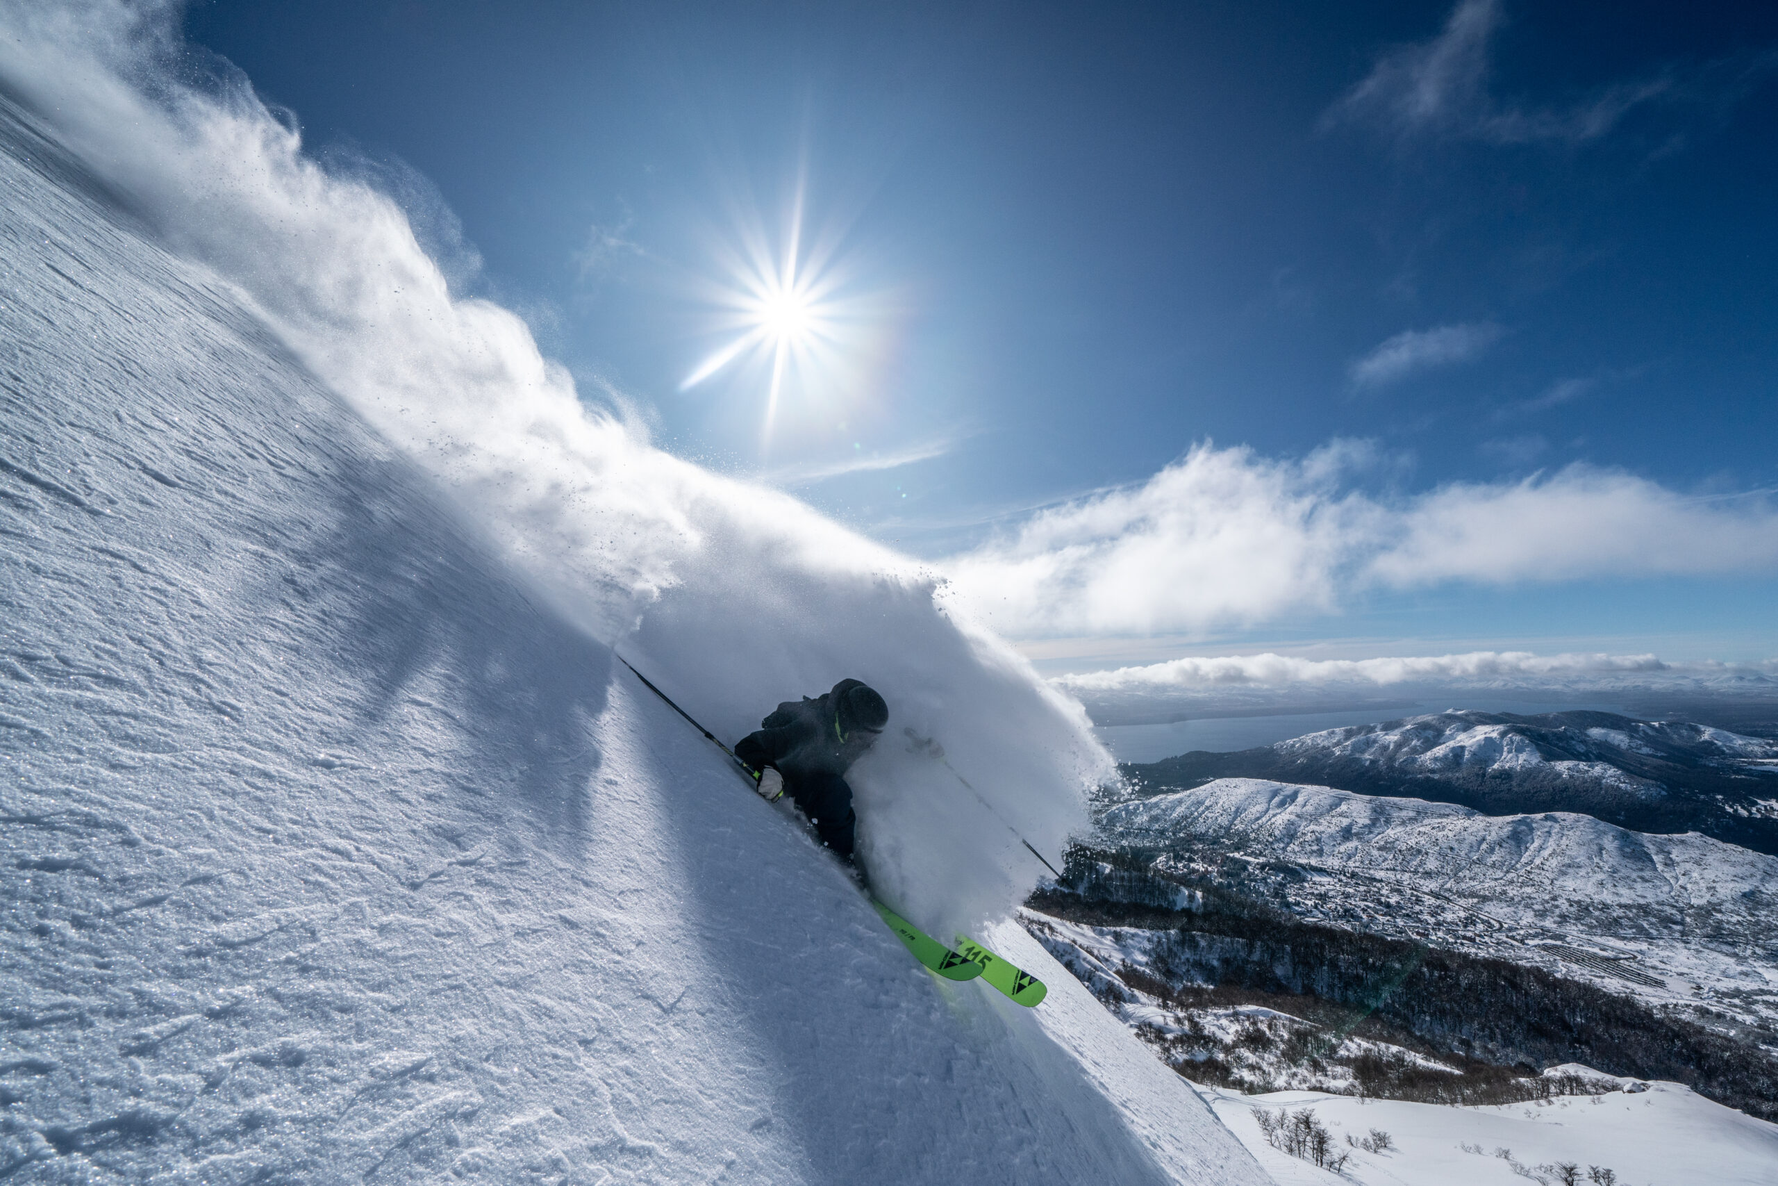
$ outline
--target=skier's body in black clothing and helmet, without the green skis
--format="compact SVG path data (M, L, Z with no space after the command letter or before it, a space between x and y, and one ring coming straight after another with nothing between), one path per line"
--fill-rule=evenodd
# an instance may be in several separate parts
M889 706L868 685L841 679L813 701L784 701L759 724L736 743L734 756L752 770L761 795L788 793L821 843L852 864L857 816L845 773L889 724ZM772 786L777 779L768 772L777 772L781 788Z

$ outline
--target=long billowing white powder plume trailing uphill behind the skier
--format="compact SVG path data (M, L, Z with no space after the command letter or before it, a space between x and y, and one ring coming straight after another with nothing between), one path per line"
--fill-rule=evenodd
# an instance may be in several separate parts
M718 736L841 677L877 686L891 725L852 781L891 902L933 928L1001 916L1042 871L1013 832L1054 859L1081 825L1109 759L1076 702L917 564L589 407L517 315L452 292L396 201L306 156L238 75L188 82L174 9L21 4L0 23L5 85L164 244Z

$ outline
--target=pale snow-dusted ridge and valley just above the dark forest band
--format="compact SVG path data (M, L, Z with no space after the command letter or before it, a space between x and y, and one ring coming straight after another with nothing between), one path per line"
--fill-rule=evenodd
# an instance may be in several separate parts
M1778 1019L1778 857L1705 836L1262 779L1120 804L1102 827L1129 843L1289 861L1312 873L1289 887L1305 918Z

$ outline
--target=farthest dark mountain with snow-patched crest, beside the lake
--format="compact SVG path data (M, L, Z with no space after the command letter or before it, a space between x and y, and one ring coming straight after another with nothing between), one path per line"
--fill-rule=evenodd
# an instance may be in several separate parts
M1145 789L1250 777L1490 814L1574 811L1638 832L1702 832L1778 853L1778 741L1686 722L1449 711L1125 772Z

